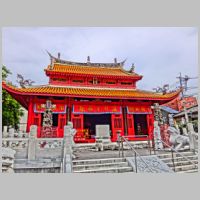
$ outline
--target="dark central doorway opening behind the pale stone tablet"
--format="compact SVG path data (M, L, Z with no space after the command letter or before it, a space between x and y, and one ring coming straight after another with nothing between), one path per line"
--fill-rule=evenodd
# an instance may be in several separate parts
M111 130L111 114L85 114L83 121L84 129L91 138L96 135L96 125L108 124Z

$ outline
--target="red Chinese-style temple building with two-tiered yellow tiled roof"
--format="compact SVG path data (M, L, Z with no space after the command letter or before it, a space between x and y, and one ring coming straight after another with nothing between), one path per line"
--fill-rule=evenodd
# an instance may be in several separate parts
M47 85L18 88L2 83L3 89L28 110L27 132L31 125L42 134L47 100L51 102L53 137L63 137L64 126L72 121L77 130L75 142L94 142L95 126L108 124L111 140L122 135L153 136L154 117L151 106L164 104L178 97L180 90L162 94L137 89L142 79L134 71L123 68L123 62L71 62L50 55L51 63L44 70ZM156 77L152 77L156 78ZM141 137L141 140L143 138ZM134 138L129 138L134 140Z

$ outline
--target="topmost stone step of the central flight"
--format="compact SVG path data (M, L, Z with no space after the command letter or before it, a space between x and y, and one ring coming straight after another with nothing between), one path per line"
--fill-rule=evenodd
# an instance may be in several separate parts
M103 158L103 159L90 159L90 160L73 160L73 166L86 165L86 164L103 164L103 163L119 163L126 162L125 158Z

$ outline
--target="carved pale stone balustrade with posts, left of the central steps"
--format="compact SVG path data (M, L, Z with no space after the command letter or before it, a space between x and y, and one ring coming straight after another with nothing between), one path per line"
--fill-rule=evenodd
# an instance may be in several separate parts
M3 148L9 148L15 152L15 158L13 154L13 156L7 156L4 159L9 168L7 171L11 171L13 168L14 159L17 161L15 164L18 171L21 170L20 166L22 166L22 171L26 171L26 168L27 170L30 170L29 168L35 170L37 166L41 168L38 164L41 160L45 160L45 162L50 160L49 163L51 163L51 161L58 159L61 162L60 165L62 165L60 166L62 172L72 172L73 146L75 145L73 136L76 133L72 123L64 127L64 138L37 138L37 126L35 125L30 127L28 137L24 137L23 134L16 136L14 129L11 129L9 133L5 133L4 131L2 138ZM22 160L25 162L21 163ZM6 171L5 167L4 171Z

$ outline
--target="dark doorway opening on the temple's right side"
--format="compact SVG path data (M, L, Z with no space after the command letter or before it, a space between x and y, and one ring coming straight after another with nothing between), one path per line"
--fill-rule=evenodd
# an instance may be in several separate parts
M147 115L135 114L134 117L134 128L135 135L148 135L147 129Z

